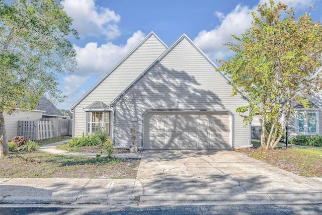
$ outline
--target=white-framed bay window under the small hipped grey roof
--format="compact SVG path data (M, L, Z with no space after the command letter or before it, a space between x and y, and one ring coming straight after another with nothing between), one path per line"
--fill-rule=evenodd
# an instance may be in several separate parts
M87 132L94 133L102 128L109 133L109 115L109 112L87 112Z

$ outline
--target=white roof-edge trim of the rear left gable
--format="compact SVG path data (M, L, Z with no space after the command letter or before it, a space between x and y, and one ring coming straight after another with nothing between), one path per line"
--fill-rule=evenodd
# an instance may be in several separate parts
M86 98L97 86L99 86L115 69L117 69L133 52L135 52L148 38L154 36L160 43L162 43L166 48L168 46L151 31L146 37L144 37L127 55L125 55L113 68L111 68L107 74L105 74L89 91L87 91L80 99L78 99L69 109L72 110L79 104L84 98Z

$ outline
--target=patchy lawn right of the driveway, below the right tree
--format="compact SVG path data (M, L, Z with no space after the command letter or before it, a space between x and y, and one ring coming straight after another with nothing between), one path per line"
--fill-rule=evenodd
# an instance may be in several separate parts
M305 177L322 177L322 149L281 148L236 150L257 160Z

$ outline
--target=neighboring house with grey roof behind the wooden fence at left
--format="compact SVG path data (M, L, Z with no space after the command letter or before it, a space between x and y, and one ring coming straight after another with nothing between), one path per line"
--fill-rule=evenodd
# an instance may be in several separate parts
M66 118L64 117L57 108L46 98L41 98L39 104L32 111L20 110L18 109L11 115L4 114L6 130L7 130L7 140L18 135L18 121L24 120L41 120L41 118Z

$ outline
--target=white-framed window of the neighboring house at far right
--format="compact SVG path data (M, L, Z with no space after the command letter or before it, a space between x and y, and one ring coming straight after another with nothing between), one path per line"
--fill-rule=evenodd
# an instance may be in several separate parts
M296 127L298 134L315 135L318 134L318 112L303 111L298 112Z

